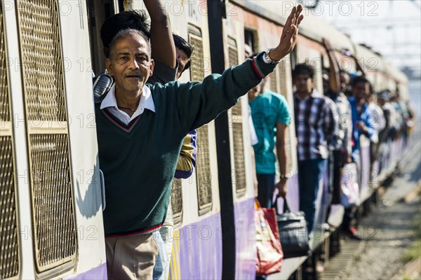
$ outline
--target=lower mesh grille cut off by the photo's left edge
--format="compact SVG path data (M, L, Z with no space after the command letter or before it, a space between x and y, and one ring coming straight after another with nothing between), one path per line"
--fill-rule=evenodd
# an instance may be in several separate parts
M0 279L19 273L12 137L0 137Z

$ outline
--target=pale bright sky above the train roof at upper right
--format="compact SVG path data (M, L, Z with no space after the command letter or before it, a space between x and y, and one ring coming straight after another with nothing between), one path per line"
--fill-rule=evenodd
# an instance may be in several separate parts
M311 13L380 52L390 64L421 74L421 0L321 0Z

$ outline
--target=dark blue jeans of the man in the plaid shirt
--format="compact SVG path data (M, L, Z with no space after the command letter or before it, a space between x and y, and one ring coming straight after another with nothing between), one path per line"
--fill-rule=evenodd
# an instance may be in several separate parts
M328 160L299 160L298 186L300 189L300 210L304 211L307 220L307 231L310 233L314 227L316 214L316 199L323 174L326 172Z

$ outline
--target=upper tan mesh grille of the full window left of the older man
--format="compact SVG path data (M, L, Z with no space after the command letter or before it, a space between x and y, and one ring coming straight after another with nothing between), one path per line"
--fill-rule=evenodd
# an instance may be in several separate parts
M33 0L18 5L27 119L66 121L56 3Z

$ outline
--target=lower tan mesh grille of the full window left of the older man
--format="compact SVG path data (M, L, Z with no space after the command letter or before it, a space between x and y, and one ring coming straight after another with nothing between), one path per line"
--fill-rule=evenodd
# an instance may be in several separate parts
M36 255L39 265L49 268L76 251L67 134L32 134L29 149Z

